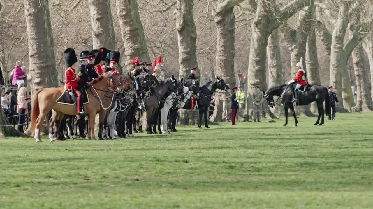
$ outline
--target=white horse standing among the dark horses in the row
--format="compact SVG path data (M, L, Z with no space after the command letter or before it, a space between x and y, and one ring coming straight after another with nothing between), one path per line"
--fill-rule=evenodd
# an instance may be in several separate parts
M186 86L183 86L183 88L184 88L183 90L184 90L185 98L182 102L179 102L179 103L181 104L181 103L184 102L184 105L185 105L186 100L188 100L191 97L193 92L189 91L189 88L186 87ZM162 134L169 134L170 133L167 130L167 115L168 115L168 112L169 112L170 108L172 107L173 102L175 102L175 99L176 99L175 98L175 93L172 92L170 94L170 96L168 96L166 98L166 100L164 102L164 106L161 109L161 125L162 125L161 131L162 131ZM178 104L178 106L179 106L179 104Z

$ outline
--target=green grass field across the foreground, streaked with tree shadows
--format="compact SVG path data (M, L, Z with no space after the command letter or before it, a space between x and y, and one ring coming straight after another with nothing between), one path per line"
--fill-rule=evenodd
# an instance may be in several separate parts
M0 208L372 208L372 118L179 126L106 141L0 139Z

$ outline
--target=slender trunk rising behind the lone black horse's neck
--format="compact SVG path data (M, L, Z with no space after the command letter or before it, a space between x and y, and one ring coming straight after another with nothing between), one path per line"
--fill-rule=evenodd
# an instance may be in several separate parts
M282 61L281 61L281 53L280 53L280 42L279 42L279 31L278 29L273 30L272 34L268 38L268 45L267 45L267 59L268 59L268 81L269 87L275 86L277 84L283 84L283 75L282 75ZM278 99L275 96L275 101ZM281 102L278 102L279 104ZM247 106L251 106L252 102L247 104ZM249 108L249 107L248 107ZM279 105L275 105L271 108L272 112L276 116L283 115L283 107Z

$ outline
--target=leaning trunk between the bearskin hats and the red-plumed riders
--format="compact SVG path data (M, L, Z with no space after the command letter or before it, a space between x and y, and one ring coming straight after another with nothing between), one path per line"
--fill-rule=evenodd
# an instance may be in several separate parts
M132 60L140 56L141 61L151 62L144 28L142 27L137 0L116 0L120 31L125 47L125 66L127 71L133 70Z

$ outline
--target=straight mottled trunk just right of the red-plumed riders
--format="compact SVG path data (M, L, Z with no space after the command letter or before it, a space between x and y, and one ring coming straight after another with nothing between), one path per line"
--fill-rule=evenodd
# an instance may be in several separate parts
M193 67L197 67L197 74L200 75L195 46L197 32L193 17L193 1L178 0L174 15L176 16L176 31L178 32L179 79L186 78L190 74L190 68ZM197 77L199 77L198 75ZM189 120L194 120L193 115L191 111L181 109L179 123L189 125Z

